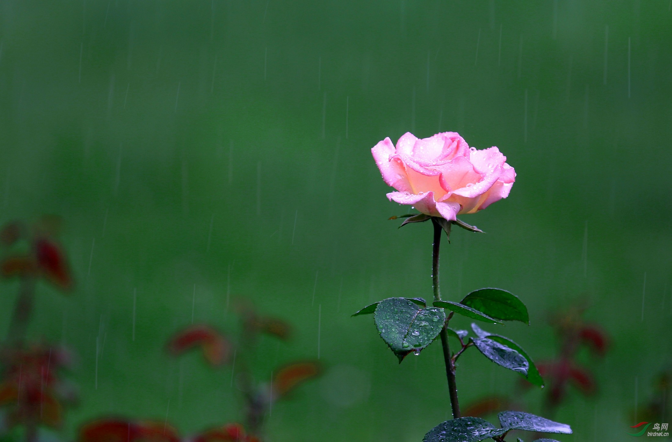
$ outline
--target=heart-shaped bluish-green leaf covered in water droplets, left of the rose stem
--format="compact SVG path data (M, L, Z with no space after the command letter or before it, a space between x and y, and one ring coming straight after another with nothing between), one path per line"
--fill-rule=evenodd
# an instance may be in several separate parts
M431 344L446 323L442 309L418 307L406 298L388 298L376 307L374 321L378 333L400 364L409 353L418 355Z

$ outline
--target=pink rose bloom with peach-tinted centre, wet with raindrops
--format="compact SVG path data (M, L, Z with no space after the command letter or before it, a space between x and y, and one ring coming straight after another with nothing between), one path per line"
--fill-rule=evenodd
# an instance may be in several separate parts
M423 139L405 133L396 149L386 138L371 152L383 180L398 190L387 194L390 201L449 221L506 198L515 181L497 147L476 150L456 132Z

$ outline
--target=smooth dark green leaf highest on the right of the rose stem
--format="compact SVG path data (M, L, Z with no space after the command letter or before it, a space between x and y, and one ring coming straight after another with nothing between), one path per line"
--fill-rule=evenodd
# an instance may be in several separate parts
M506 290L479 289L466 295L460 303L497 320L520 321L530 324L528 307L517 296Z

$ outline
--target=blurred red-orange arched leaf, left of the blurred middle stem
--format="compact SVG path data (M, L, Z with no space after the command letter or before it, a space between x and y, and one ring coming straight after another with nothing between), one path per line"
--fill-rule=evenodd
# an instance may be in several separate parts
M175 356L190 348L200 347L210 365L222 365L228 361L230 342L220 332L206 325L190 326L169 340L168 351Z

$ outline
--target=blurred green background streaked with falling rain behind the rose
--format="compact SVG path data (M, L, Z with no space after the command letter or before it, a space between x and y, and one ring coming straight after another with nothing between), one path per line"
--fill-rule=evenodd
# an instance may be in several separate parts
M30 326L79 355L62 434L110 414L182 433L240 420L230 368L165 342L194 299L196 322L235 330L227 303L249 297L296 328L261 342L260 378L317 357L319 321L328 367L274 406L268 441L420 441L450 410L440 346L397 365L371 318L349 316L431 297L431 227L387 221L407 208L371 147L458 131L498 146L517 181L463 217L487 234L444 246L444 297L517 294L532 323L502 332L535 359L556 352L548 311L587 301L612 347L591 365L597 396L555 416L575 429L558 439L628 440L671 363L671 6L1 1L0 221L60 215L78 283L40 285ZM1 285L0 330L16 289ZM516 381L475 351L458 368L462 404Z

